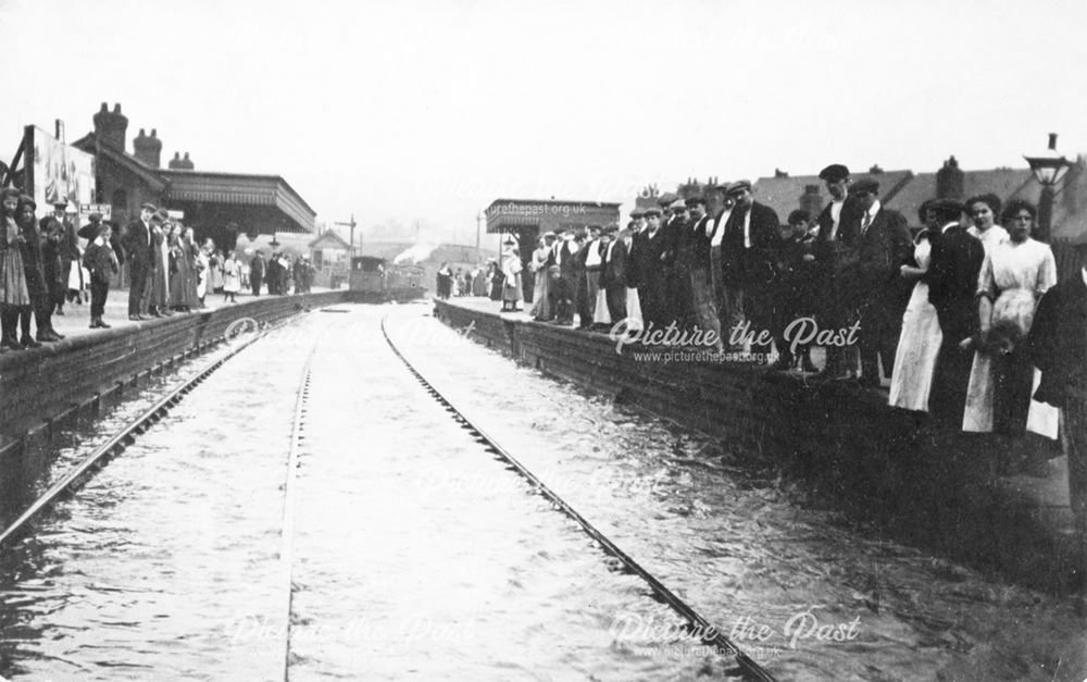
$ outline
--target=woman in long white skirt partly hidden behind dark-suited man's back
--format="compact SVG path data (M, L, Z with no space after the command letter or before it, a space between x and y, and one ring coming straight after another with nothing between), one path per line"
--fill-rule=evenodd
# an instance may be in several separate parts
M926 202L927 203L927 202ZM921 220L928 223L926 206L922 204ZM913 285L913 295L902 315L902 333L898 339L898 350L895 352L895 370L890 377L890 395L888 405L919 412L928 411L928 394L933 387L933 372L936 370L936 356L940 352L944 333L936 308L928 302L928 263L932 260L933 245L928 239L929 230L922 230L913 239L913 260L916 265L902 265L901 274L907 280L917 280ZM939 226L935 227L939 230Z

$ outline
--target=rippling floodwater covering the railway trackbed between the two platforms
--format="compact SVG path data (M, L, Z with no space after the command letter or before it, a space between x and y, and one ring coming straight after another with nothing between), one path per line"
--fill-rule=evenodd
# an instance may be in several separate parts
M1071 604L797 506L713 443L518 368L425 306L338 309L229 360L4 550L0 675L268 680L286 660L296 680L726 678L426 394L385 315L439 390L778 679L1087 675ZM62 439L40 486L152 399Z

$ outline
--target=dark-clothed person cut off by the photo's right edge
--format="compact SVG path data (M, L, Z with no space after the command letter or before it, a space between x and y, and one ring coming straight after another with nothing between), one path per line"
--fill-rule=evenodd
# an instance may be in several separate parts
M1061 410L1064 451L1069 456L1069 499L1084 537L1087 533L1087 268L1041 297L1030 327L1029 349L1035 367L1041 370L1034 399Z

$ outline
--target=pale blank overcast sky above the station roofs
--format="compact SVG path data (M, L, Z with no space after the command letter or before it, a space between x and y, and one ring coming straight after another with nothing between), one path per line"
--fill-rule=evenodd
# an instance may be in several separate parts
M121 102L129 151L154 127L163 163L464 243L498 197L1087 151L1082 0L0 0L0 26L8 161Z

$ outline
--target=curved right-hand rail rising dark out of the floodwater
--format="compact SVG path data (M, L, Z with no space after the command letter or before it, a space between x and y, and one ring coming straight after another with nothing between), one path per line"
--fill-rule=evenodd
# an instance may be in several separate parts
M410 360L397 348L392 338L389 336L388 330L386 328L386 320L388 318L382 319L382 334L385 336L386 343L392 349L400 361L404 363L408 370L415 376L416 380L423 385L430 396L437 400L441 406L449 412L450 418L459 422L464 429L467 429L476 441L485 446L496 458L510 464L522 478L524 478L533 489L544 497L546 497L554 509L561 511L566 517L575 521L580 525L582 530L591 537L600 547L610 556L619 559L623 563L626 571L634 573L641 578L646 584L649 585L650 590L653 591L653 595L664 604L667 604L674 611L676 611L680 617L683 617L694 632L698 633L704 644L715 647L719 652L726 656L732 656L736 660L737 671L744 679L747 680L758 680L760 682L772 682L774 677L771 675L765 669L763 669L758 662L755 662L751 657L745 654L736 644L734 644L724 633L721 632L716 627L710 623L705 618L698 613L690 605L680 599L675 593L669 590L660 580L653 576L652 573L642 568L637 561L635 561L629 555L620 549L615 543L608 538L607 535L601 533L591 523L589 523L582 514L577 512L573 507L571 507L564 499L562 499L558 494L555 494L551 488L544 484L532 471L529 471L524 464L517 461L505 448L503 448L497 441L487 435L487 433L480 429L476 423L474 423L467 416L465 416L461 410L457 408L445 395L441 394L430 382L423 376L422 373L411 363Z

